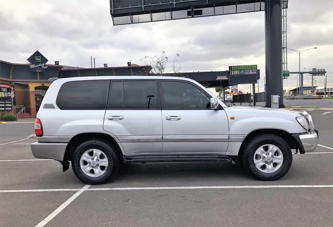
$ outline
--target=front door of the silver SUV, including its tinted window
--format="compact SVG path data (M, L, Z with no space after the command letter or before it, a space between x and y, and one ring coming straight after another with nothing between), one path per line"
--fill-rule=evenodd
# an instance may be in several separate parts
M160 80L163 152L223 153L229 127L223 109L210 108L210 95L181 80Z

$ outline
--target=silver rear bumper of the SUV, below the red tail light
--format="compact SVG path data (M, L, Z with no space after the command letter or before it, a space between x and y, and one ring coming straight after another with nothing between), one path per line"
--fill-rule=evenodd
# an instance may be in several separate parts
M63 161L67 143L40 143L35 142L31 145L32 154L39 159L54 159Z

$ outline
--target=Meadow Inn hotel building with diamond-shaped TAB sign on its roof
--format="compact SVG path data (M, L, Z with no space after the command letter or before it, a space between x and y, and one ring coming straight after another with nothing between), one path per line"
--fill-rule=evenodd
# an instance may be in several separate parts
M38 50L28 58L29 63L12 63L0 60L0 103L12 102L13 107L0 106L0 112L17 114L25 107L26 115L36 117L52 77L148 75L151 66L139 66L128 62L124 67L83 68L46 64L48 61ZM84 87L82 88L84 89ZM9 100L9 101L5 101Z

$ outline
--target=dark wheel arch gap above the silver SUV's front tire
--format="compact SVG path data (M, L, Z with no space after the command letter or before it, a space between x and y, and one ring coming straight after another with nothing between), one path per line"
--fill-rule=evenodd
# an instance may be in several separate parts
M299 149L301 150L300 148L300 145L299 145L299 142L296 141L296 139L288 132L284 131L284 130L281 130L281 129L258 129L258 130L254 130L252 131L251 133L249 133L245 139L243 140L240 148L239 148L239 151L238 151L238 159L239 157L242 156L242 153L244 151L244 147L246 146L246 144L255 136L257 135L260 135L260 134L273 134L273 135L276 135L276 136L279 136L281 137L283 140L285 140L287 142L287 144L289 145L289 147L291 149Z

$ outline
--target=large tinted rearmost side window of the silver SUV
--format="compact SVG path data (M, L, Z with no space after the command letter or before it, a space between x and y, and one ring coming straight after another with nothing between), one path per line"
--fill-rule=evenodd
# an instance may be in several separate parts
M64 83L57 96L60 109L106 109L110 80L81 80Z

